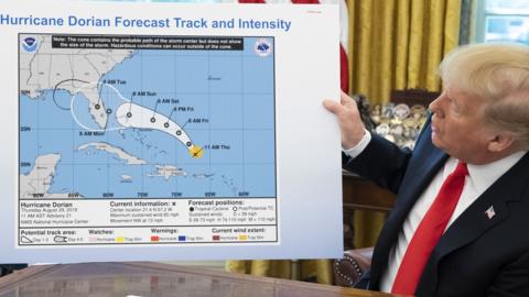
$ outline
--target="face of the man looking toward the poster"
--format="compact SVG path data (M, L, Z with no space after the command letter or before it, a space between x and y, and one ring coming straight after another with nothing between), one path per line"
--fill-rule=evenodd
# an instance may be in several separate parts
M432 142L449 155L471 164L486 157L493 132L486 128L485 102L455 88L446 88L432 103Z

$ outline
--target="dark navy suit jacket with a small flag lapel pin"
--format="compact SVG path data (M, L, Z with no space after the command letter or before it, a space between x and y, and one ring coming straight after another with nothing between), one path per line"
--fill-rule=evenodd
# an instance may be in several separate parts
M431 141L428 122L413 152L373 135L344 168L397 194L359 286L378 290L388 255L415 200L447 155ZM495 216L485 213L494 207ZM446 230L419 282L419 296L529 296L529 154L496 180Z

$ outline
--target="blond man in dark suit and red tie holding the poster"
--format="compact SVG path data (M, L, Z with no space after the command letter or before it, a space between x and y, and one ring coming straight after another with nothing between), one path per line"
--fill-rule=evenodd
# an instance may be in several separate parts
M359 286L418 296L529 296L529 47L478 44L440 66L413 152L325 100L344 168L397 194ZM447 208L447 210L446 210Z

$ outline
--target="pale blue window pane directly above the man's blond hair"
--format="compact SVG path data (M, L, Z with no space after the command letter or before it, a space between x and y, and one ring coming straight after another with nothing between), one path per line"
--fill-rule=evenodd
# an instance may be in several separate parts
M529 16L486 16L485 42L508 41L529 44Z

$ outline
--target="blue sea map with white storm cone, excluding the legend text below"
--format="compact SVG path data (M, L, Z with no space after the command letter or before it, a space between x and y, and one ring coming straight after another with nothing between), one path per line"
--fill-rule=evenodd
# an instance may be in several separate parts
M19 40L21 199L276 197L272 37Z

